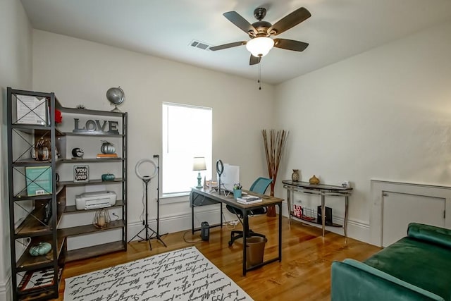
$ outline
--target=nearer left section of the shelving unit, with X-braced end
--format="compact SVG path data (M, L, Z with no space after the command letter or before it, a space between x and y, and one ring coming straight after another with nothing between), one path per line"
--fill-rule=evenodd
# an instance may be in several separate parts
M54 93L7 89L9 235L14 300L58 297L65 238L58 237L57 225L65 204L61 203L64 198L58 197L62 190L56 189L55 142L57 135L61 135L55 128L55 111L51 109L56 106ZM47 151L51 159L36 161L30 158L30 151L35 149L39 139L50 141ZM51 191L47 191L47 186L39 189L39 185L44 185L38 180L40 175L30 178L26 168L31 166L42 168L42 173L49 170L47 185ZM30 185L37 185L39 195L28 192ZM49 208L51 214L46 214ZM39 242L49 242L51 250L41 256L32 256L30 248ZM42 270L48 271L49 282L39 285L33 275Z

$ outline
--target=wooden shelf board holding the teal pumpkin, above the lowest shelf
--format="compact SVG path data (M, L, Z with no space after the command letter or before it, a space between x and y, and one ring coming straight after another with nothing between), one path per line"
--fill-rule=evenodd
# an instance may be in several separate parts
M66 238L63 237L57 239L58 245L56 246L56 251L58 252L58 258L61 255L61 250L65 239ZM30 247L37 245L39 242L49 242L49 244L52 244L52 240L53 238L51 237L51 235L32 238L27 249L25 250L25 252L23 252L22 256L20 256L19 260L16 262L17 271L39 269L40 267L44 268L45 266L51 266L54 262L53 250L42 256L31 256Z

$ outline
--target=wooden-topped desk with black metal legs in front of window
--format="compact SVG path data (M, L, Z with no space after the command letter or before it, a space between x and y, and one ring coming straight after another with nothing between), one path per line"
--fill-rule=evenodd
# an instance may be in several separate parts
M245 190L247 191L247 190ZM270 264L271 262L278 262L282 261L282 202L283 199L280 199L278 197L270 197L268 195L259 195L255 192L249 192L251 195L258 195L263 199L263 202L257 203L257 204L240 204L233 199L233 194L230 194L228 196L225 195L218 195L218 192L213 191L209 192L204 190L203 188L197 189L192 188L190 193L190 206L191 206L191 222L192 222L192 233L194 234L194 207L197 206L204 206L207 204L221 204L221 225L222 225L222 204L229 204L237 209L240 209L243 216L243 231L245 233L249 232L249 217L247 215L247 212L251 209L257 209L261 207L266 207L268 205L278 205L279 207L279 231L278 231L278 257L266 260L266 262L262 262L261 264L257 264L256 266L250 266L247 267L246 264L246 243L243 239L242 243L242 275L246 276L247 271L252 271L253 269L257 269L260 266L264 266L265 264ZM218 225L216 225L218 226Z

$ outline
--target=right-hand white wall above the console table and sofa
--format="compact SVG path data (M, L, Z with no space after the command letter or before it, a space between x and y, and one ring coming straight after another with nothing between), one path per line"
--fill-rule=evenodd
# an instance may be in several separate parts
M371 178L451 184L450 37L448 22L276 87L281 174L350 180L351 237L369 241Z

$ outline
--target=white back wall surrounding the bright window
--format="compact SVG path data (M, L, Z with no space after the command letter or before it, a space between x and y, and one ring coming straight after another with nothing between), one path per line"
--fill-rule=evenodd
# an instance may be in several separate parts
M188 47L188 46L187 46ZM182 51L182 50L180 50ZM213 158L241 166L241 181L249 187L266 175L261 129L273 125L273 86L258 90L256 82L211 70L138 54L81 39L33 31L33 89L55 92L63 106L84 104L87 109L111 110L105 94L121 85L128 112L128 221L129 235L142 228L142 182L135 164L161 154L161 102L213 108ZM199 129L202 135L202 129ZM212 166L214 166L212 162ZM164 166L161 166L164 169ZM174 178L173 180L177 180ZM193 185L197 179L193 178ZM156 197L156 181L149 195ZM161 233L190 228L190 207L185 202L160 207ZM150 219L156 203L149 202ZM205 211L207 209L199 209ZM211 209L196 222L211 218ZM218 219L216 220L218 221ZM154 228L154 226L152 225ZM131 236L130 236L131 238Z

